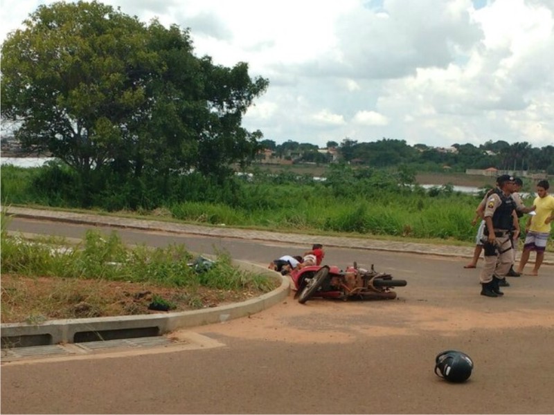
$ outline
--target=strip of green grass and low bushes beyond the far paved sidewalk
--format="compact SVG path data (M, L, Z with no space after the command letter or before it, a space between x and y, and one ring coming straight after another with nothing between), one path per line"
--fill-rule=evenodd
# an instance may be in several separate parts
M71 170L58 164L37 169L6 166L2 197L5 204L78 208L73 179ZM324 181L258 169L224 183L191 173L179 176L170 187L151 182L141 187L141 200L136 201L125 185L111 183L109 191L91 196L93 208L206 225L459 243L473 242L476 228L471 220L487 190L465 194L449 183L425 189L409 170L348 165L331 166ZM533 192L532 184L526 183L524 191Z

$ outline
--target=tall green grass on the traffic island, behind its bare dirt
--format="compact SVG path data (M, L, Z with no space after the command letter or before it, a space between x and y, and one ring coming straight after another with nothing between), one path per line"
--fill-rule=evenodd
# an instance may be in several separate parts
M232 266L225 252L217 255L211 268L198 272L188 265L193 255L183 245L128 248L116 232L103 235L89 230L82 244L71 249L66 248L63 239L30 242L7 234L2 234L1 245L2 273L148 282L169 287L253 288L264 292L274 288L274 282L267 278Z

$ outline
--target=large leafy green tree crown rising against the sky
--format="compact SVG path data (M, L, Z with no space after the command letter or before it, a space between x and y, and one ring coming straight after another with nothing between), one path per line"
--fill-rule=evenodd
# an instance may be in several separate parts
M248 163L260 131L242 116L268 81L195 57L188 30L147 26L96 1L39 6L2 44L1 116L24 147L91 172L221 178Z

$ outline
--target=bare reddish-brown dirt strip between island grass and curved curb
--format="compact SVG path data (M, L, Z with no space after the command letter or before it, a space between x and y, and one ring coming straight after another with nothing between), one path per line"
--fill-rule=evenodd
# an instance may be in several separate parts
M258 297L259 291L175 288L57 277L1 277L2 323L42 322L65 318L166 313L149 308L163 299L170 311L223 306Z

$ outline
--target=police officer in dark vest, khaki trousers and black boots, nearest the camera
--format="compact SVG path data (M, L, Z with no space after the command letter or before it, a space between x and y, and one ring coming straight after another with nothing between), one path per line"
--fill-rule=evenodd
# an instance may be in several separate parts
M481 295L487 297L499 297L504 295L499 289L501 286L509 286L506 275L512 266L512 241L510 231L517 221L515 214L516 204L511 194L514 192L514 178L503 174L497 179L498 187L489 196L485 205L485 237L487 240L483 246L485 251L485 265L481 270Z

